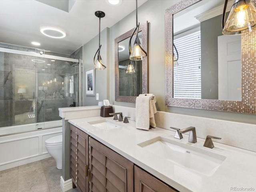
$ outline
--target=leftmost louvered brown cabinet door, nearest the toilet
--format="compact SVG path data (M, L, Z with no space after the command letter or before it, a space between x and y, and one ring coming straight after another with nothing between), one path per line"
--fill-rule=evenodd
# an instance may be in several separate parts
M70 176L73 188L80 192L89 191L89 136L70 124Z

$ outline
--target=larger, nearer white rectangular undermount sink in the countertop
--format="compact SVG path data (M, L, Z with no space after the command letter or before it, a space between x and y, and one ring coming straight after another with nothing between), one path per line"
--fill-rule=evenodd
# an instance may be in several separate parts
M138 146L164 158L167 162L174 162L207 176L212 176L226 159L220 154L160 136L142 142Z

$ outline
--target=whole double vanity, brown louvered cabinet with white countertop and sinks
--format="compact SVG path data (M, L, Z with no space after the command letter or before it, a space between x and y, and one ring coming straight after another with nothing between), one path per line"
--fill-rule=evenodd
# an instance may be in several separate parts
M217 192L256 190L255 152L205 139L188 142L163 128L93 116L68 120L71 177L81 191ZM82 164L82 166L81 166ZM105 191L105 190L104 190Z

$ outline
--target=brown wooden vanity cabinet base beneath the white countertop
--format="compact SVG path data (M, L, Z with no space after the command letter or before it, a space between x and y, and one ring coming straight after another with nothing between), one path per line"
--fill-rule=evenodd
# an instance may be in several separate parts
M79 192L178 192L70 124L70 176Z

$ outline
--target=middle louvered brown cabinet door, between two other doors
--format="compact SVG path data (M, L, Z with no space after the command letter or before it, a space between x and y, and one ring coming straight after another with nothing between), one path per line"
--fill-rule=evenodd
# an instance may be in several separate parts
M133 192L133 163L89 138L90 192Z

